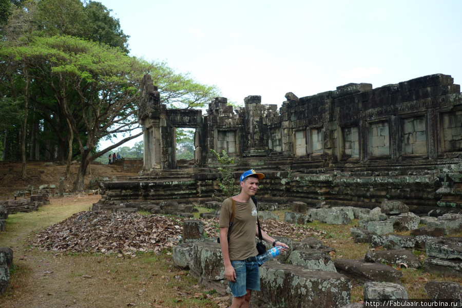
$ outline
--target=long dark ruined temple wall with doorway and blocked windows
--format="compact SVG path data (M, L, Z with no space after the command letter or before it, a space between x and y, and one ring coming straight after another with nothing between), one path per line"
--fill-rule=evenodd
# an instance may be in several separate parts
M236 178L265 174L259 198L375 208L386 200L416 214L462 207L462 94L450 75L372 88L347 84L309 97L289 92L278 110L249 96L234 110L225 98L201 110L168 109L146 75L139 121L144 168L125 182L103 183L98 207L126 202L213 201L211 149L234 158ZM176 159L176 129L195 129L194 161Z

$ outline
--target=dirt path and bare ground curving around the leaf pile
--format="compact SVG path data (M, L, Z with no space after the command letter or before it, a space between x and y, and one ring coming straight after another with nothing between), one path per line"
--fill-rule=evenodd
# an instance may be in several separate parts
M99 198L51 199L38 212L10 215L0 246L13 249L14 266L0 308L218 307L208 300L210 290L176 268L168 254L117 258L43 252L31 246L35 233L88 210Z

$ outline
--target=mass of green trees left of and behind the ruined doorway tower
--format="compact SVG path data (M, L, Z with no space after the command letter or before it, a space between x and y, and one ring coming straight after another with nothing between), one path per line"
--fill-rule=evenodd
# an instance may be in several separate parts
M220 95L165 62L128 55L111 10L79 0L0 0L0 125L3 159L81 160L75 189L91 161L141 135L140 81L150 73L171 108L203 107ZM105 139L114 140L106 148ZM68 168L69 170L69 168ZM70 176L68 174L68 176Z

